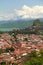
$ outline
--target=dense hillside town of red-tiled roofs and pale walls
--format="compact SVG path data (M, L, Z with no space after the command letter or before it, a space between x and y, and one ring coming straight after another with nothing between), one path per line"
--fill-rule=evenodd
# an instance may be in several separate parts
M17 34L16 37L0 34L0 63L9 62L21 65L23 58L35 50L37 53L43 49L43 36L35 34ZM12 64L11 64L12 65Z

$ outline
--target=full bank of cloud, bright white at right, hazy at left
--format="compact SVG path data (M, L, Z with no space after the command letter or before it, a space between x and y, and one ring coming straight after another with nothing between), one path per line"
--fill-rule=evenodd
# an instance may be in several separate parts
M20 18L43 18L43 6L29 7L24 5L21 10L15 9L11 13L0 15L0 20L20 19Z

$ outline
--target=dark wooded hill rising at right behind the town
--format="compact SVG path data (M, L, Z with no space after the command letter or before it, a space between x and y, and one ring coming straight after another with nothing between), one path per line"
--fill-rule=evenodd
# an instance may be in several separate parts
M39 34L43 35L43 21L40 21L39 19L33 20L32 25L29 27L29 25L25 28L13 30L9 33L17 33L17 34ZM14 35L15 37L15 35Z

